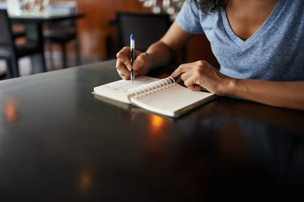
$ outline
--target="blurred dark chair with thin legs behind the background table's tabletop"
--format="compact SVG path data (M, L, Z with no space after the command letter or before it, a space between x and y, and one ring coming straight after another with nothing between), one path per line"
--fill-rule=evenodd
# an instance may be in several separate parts
M77 14L77 2L56 2L49 5L52 11L64 12L67 14ZM53 66L52 44L61 45L63 68L67 68L66 43L74 41L76 64L81 65L79 41L77 37L77 23L75 19L64 21L54 21L47 24L43 32L44 40L49 44L51 63Z

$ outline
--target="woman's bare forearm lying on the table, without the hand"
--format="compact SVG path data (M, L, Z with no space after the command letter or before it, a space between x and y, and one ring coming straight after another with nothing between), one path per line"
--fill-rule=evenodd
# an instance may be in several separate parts
M235 79L228 94L270 106L304 110L304 81Z

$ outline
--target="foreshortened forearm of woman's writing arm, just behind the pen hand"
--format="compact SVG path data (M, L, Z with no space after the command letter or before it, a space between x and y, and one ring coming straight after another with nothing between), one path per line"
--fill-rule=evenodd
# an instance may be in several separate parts
M151 57L151 69L167 65L174 52L162 41L157 41L149 46L146 53Z

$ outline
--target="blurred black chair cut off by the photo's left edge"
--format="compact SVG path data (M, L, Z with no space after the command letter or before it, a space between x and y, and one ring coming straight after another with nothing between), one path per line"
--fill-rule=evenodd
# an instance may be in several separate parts
M6 60L8 78L19 77L18 59L40 53L40 50L34 41L27 41L25 45L14 43L7 10L0 10L0 27L0 59Z

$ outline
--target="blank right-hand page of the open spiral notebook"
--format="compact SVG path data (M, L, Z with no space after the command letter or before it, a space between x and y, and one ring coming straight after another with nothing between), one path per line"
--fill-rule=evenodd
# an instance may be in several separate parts
M213 95L208 92L192 91L176 84L142 97L132 97L131 102L149 111L174 116L174 112Z

